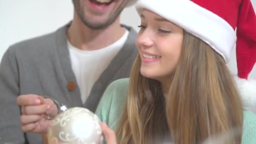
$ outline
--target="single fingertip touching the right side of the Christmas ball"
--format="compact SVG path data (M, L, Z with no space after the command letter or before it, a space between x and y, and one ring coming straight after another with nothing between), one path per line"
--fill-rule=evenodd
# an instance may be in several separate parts
M101 130L106 138L107 144L117 144L115 131L110 129L106 123L101 123Z

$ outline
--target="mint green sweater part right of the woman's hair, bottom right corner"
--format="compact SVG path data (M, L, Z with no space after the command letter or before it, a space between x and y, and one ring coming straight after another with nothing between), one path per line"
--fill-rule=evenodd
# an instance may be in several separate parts
M256 144L256 115L244 111L242 144Z

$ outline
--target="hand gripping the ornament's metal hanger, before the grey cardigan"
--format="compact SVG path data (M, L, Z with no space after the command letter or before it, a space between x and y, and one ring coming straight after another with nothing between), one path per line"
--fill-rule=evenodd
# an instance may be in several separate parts
M33 94L18 96L16 100L17 104L22 107L21 130L31 133L46 133L51 120L45 117L56 117L58 114L54 102Z

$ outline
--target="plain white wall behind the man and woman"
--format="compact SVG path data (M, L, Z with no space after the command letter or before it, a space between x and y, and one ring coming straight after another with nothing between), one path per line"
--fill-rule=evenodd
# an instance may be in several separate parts
M256 0L251 0L256 10ZM13 43L53 32L72 19L71 0L0 0L0 59ZM138 30L139 16L135 8L126 8L122 15L123 24ZM228 63L236 73L235 50ZM249 78L256 79L256 66Z

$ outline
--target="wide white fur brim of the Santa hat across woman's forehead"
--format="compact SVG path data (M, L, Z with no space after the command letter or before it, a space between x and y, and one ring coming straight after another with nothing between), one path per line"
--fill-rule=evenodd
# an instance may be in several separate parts
M190 0L139 0L139 15L144 8L200 38L229 61L237 37L232 26L215 13Z

